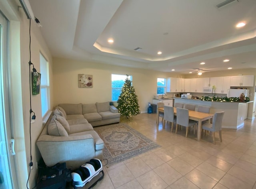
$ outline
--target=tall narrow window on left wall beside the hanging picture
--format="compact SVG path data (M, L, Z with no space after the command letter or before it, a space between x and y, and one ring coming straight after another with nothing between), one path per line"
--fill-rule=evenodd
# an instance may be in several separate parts
M49 63L40 53L42 117L50 110ZM43 119L44 120L44 119Z

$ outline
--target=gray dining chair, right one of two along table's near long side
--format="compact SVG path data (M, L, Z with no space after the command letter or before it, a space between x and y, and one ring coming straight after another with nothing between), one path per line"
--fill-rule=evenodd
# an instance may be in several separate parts
M188 115L188 109L185 108L176 108L176 115L177 115L177 120L176 120L176 134L177 134L177 129L178 125L186 127L186 137L188 136L188 128L191 126L196 126L196 122L193 120L189 119Z

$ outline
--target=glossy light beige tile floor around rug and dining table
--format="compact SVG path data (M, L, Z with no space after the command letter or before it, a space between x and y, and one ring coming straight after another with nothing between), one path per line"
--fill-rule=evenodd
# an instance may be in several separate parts
M256 120L223 129L220 143L211 136L196 140L186 129L177 134L170 125L156 125L156 114L121 119L162 147L111 167L94 189L256 189ZM85 188L85 187L84 187Z

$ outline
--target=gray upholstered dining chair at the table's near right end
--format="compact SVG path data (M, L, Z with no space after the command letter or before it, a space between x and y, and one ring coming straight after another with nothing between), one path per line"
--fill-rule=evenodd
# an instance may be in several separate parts
M213 144L215 144L215 132L219 132L220 142L222 142L221 130L222 130L222 120L224 112L215 112L212 120L212 124L204 123L202 124L202 129L212 132Z

